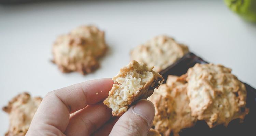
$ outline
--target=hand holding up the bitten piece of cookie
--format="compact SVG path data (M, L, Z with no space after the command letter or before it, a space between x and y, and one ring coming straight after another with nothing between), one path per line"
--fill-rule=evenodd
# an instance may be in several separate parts
M49 92L26 136L146 136L155 116L154 105L140 100L120 118L112 117L102 102L112 85L111 79L96 79Z

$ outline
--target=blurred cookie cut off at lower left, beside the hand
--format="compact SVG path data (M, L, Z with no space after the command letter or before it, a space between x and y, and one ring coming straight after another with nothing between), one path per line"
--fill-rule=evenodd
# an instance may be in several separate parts
M5 136L25 136L42 98L31 98L28 93L14 97L3 111L9 114L9 129Z

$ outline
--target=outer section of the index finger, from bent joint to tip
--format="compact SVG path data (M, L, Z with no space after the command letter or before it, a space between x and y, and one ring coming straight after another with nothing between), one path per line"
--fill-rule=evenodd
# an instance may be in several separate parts
M89 80L58 89L54 94L67 106L70 113L73 113L87 105L106 99L113 83L110 78Z

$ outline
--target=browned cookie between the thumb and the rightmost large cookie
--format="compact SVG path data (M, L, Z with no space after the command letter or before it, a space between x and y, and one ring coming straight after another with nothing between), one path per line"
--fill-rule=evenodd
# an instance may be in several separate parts
M155 105L153 126L160 134L179 136L183 128L194 126L196 118L191 116L186 87L185 75L169 75L166 84L160 85L148 98Z

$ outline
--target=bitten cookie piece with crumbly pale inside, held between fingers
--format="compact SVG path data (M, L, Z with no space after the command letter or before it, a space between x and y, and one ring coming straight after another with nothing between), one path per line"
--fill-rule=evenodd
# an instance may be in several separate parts
M104 104L112 109L113 116L121 116L131 104L147 99L155 88L163 82L163 77L154 72L153 67L131 61L120 69L113 78L114 84Z

